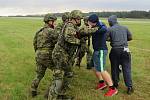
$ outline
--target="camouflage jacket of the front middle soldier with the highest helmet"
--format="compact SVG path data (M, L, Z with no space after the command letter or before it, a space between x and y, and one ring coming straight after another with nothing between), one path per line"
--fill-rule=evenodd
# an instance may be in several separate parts
M77 46L80 44L80 40L75 37L77 30L77 27L73 23L68 22L63 26L62 33L58 38L57 44L70 56L74 55Z

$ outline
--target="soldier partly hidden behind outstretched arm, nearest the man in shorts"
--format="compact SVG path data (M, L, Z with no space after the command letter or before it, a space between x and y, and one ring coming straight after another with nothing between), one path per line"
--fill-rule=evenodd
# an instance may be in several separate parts
M89 26L88 25L88 17L85 17L83 27L88 28L88 26ZM88 44L87 44L87 40L88 40ZM80 63L81 63L82 58L84 57L85 53L87 53L87 55L86 55L87 69L91 69L90 61L91 61L91 58L92 58L92 51L90 49L90 35L82 37L80 39L80 46L78 47L78 50L77 50L76 66L80 67Z

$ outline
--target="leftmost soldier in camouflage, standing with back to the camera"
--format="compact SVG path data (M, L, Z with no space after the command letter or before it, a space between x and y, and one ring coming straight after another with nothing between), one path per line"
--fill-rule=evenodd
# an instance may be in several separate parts
M46 14L44 17L45 25L34 37L34 50L36 53L36 77L31 85L32 96L37 95L37 88L41 79L45 75L47 68L53 69L52 51L57 42L58 33L54 29L57 18L54 15Z

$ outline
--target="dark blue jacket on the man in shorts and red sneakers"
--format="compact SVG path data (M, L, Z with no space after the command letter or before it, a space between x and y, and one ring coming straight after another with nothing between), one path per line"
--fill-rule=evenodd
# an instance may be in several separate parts
M107 50L106 45L107 27L100 21L97 23L96 26L99 27L99 29L92 34L93 49L94 51Z

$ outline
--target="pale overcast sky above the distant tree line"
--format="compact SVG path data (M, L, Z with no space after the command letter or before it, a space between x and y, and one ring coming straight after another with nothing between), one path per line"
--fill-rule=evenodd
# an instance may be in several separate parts
M0 16L45 14L74 9L91 11L150 10L150 0L0 0Z

